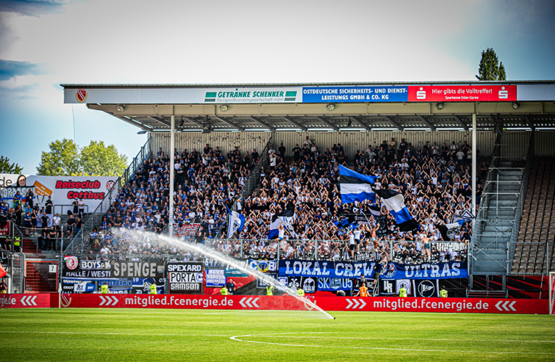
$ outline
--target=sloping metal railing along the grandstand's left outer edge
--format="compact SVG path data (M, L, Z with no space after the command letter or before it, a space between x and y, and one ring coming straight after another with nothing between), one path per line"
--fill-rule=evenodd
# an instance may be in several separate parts
M133 161L131 161L128 168L123 171L123 174L121 174L121 176L114 183L114 187L112 188L112 190L108 191L105 194L104 199L102 199L102 201L99 203L99 206L94 209L92 214L89 215L87 220L83 220L83 228L81 228L79 233L77 233L74 238L71 239L71 242L67 245L65 250L71 248L71 253L76 252L76 244L78 243L78 241L81 241L83 243L83 233L85 233L86 230L93 230L94 226L98 226L100 224L105 213L108 212L108 209L112 205L112 199L115 199L117 197L117 194L119 194L119 190L121 190L123 185L126 185L126 183L128 183L130 179L133 179L133 177L135 177L135 173L137 172L137 170L139 170L144 160L148 159L150 156L151 138L148 138L143 147L141 147L141 150L139 151L137 156L133 158ZM81 251L83 251L83 245L81 245Z

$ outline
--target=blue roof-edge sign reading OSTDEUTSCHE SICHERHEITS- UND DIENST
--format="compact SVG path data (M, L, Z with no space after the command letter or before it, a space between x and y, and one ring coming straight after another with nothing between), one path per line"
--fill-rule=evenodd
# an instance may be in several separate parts
M302 87L302 102L407 102L408 93L407 86Z

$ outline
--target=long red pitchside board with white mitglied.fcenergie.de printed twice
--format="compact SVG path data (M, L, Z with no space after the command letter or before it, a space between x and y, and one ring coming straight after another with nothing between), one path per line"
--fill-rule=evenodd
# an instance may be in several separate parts
M58 307L58 294L51 294ZM421 311L440 313L547 314L545 299L309 297L325 311ZM14 307L12 305L12 307ZM311 310L290 296L63 294L62 307L142 309Z

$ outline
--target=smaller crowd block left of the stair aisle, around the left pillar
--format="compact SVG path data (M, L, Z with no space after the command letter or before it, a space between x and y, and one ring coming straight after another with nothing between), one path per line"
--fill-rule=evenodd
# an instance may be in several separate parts
M171 248L152 246L146 242L130 242L114 235L126 235L124 230L161 233L169 222L169 155L158 150L154 159L145 160L135 178L121 188L98 230L89 235L90 255L101 253L171 254ZM206 145L202 152L174 150L176 184L173 192L173 224L176 229L185 224L198 225L187 241L203 243L213 239L231 206L244 186L251 168L258 161L256 150L241 155L230 150L223 155L219 147ZM116 231L113 231L113 230ZM134 234L135 235L135 234ZM126 242L126 244L122 244ZM123 245L130 244L130 247ZM177 250L177 249L176 249Z

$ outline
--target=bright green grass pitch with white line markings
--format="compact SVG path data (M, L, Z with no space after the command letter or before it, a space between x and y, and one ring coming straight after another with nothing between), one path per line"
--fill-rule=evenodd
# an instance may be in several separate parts
M554 316L3 309L0 361L555 361Z

